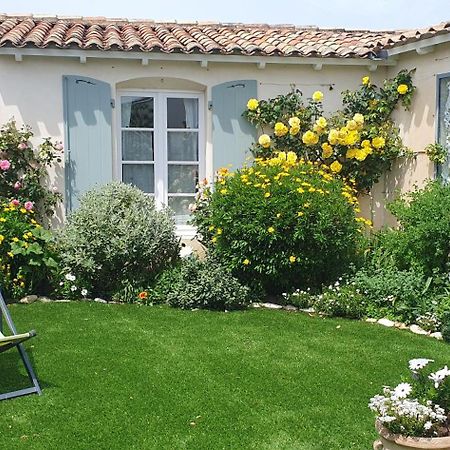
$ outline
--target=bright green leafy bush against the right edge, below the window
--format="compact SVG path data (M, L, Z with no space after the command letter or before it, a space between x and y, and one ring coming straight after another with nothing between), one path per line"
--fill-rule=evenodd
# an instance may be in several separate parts
M400 223L385 233L383 245L400 269L417 268L427 275L445 273L450 255L450 185L430 182L388 205Z

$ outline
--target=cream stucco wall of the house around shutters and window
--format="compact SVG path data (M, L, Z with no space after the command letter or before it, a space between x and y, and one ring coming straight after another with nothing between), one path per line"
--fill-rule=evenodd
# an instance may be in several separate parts
M291 86L300 89L305 96L315 90L325 94L327 111L340 107L340 93L355 89L361 77L369 74L373 83L381 84L387 76L394 76L402 68L416 67L417 94L412 114L396 114L405 143L419 153L415 162L406 168L395 170L374 189L372 199L364 199L364 212L372 216L376 225L389 220L383 203L397 189L409 189L416 181L422 182L433 175L433 166L420 154L423 147L434 142L435 74L450 71L450 44L443 44L431 54L404 55L395 67L379 66L368 72L366 66L328 66L314 70L310 64L267 64L258 69L256 63L214 63L207 68L199 62L150 61L147 66L139 60L90 59L85 64L76 58L25 56L16 62L13 56L0 55L0 123L14 117L19 124L28 124L35 133L35 140L50 136L64 142L62 76L82 75L108 82L112 97L120 88L203 90L206 111L206 176L212 177L212 114L207 110L212 86L232 80L256 79L259 98L269 98L289 91ZM329 86L332 85L332 90ZM113 110L113 123L117 108ZM113 131L116 142L117 130ZM114 152L116 146L114 144ZM52 183L64 192L64 170L56 167L51 173ZM373 212L370 211L373 210ZM63 207L58 211L63 217Z

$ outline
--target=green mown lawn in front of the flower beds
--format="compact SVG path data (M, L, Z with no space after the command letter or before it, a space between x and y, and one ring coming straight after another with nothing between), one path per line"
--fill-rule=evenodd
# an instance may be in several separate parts
M372 448L369 398L450 346L363 322L52 303L14 305L44 393L0 403L1 449ZM0 355L0 390L25 381Z

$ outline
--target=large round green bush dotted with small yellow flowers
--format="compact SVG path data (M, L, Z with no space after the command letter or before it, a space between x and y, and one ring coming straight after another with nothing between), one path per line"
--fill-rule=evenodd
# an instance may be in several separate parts
M335 280L354 259L365 219L355 191L326 165L280 152L198 193L194 223L210 251L272 293Z

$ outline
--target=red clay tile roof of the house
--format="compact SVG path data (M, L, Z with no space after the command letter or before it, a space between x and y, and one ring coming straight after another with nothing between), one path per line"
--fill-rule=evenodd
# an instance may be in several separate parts
M0 47L17 48L376 58L381 50L449 32L450 22L422 30L362 31L0 14Z

